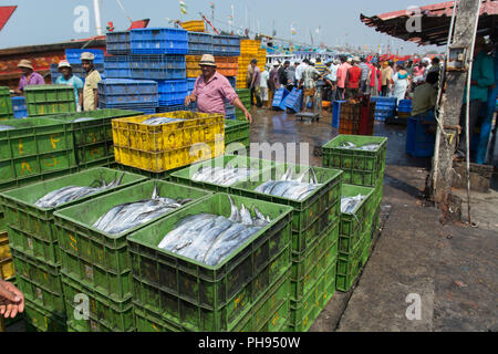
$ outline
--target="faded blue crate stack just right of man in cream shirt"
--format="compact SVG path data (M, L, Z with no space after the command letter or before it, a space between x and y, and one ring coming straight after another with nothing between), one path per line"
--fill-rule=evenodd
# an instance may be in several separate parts
M100 108L127 108L155 113L159 103L157 83L107 79L98 83Z

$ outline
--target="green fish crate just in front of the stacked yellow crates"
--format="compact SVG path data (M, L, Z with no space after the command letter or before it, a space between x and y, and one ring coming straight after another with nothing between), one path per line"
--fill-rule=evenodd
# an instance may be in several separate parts
M249 156L225 155L175 171L169 176L169 179L172 181L191 187L203 188L212 191L229 192L230 191L229 186L221 186L206 181L196 181L190 178L190 176L193 176L203 167L226 167L228 164L230 164L232 167L236 168L257 169L258 171L250 176L250 178L255 179L259 178L258 176L261 171L269 170L278 165L274 162L267 159L252 158Z

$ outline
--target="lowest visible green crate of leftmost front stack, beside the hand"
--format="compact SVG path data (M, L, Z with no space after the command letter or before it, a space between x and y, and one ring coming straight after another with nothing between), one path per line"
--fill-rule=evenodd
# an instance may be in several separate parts
M24 302L24 323L28 332L66 332L68 329L65 317L60 317L28 299Z

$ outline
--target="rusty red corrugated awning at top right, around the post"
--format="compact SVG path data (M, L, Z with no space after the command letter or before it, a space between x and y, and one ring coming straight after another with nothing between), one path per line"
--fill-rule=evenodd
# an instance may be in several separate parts
M444 45L448 40L449 24L454 1L421 7L422 32L408 32L406 21L412 17L407 10L387 12L373 17L360 14L360 20L367 27L404 41L419 45ZM480 7L478 34L488 35L497 31L498 1L484 0ZM496 33L496 32L495 32Z

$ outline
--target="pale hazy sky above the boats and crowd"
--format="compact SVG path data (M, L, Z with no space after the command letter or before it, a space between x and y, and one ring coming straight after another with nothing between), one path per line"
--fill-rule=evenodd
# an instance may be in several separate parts
M117 0L100 0L102 25L105 31L108 21L114 22L116 30L129 25ZM311 43L310 31L314 41L320 40L328 45L367 44L377 49L378 44L387 45L391 37L380 34L360 21L360 13L366 15L407 9L411 6L425 6L438 0L184 0L188 14L181 15L178 0L122 0L133 20L151 19L152 27L168 27L166 19L198 20L199 12L210 18L209 3L215 3L215 25L228 30L228 15L234 4L237 28L248 25L251 31L271 34L274 29L278 38L291 39L291 25L294 22L295 41ZM56 43L71 39L89 38L96 34L93 0L0 0L0 6L18 6L10 21L0 31L0 48ZM73 23L73 14L77 6L90 10L90 32L77 33ZM246 20L247 9L247 20ZM315 30L321 27L321 33ZM392 40L393 51L403 53L426 51L434 48L419 48L413 43ZM440 49L443 50L443 49Z

